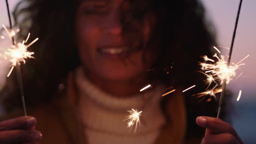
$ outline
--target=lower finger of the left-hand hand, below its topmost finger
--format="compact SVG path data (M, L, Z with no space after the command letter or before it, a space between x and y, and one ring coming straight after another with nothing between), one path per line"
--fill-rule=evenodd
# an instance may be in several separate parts
M36 130L9 130L0 132L0 143L26 143L42 139L42 134Z

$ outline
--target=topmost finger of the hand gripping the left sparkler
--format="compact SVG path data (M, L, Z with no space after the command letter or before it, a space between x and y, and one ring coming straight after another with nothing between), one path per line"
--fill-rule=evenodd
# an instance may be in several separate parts
M8 119L0 123L0 131L14 129L34 129L36 118L31 116L23 116L13 119Z

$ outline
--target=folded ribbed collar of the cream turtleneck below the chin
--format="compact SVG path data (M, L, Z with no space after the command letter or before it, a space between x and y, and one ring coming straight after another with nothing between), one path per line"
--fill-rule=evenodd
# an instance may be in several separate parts
M117 97L93 85L84 75L82 67L76 71L76 81L82 97L88 97L94 103L113 111L127 111L131 108L142 110L148 104L158 105L161 99L162 87L154 87L149 91L141 92L131 97Z

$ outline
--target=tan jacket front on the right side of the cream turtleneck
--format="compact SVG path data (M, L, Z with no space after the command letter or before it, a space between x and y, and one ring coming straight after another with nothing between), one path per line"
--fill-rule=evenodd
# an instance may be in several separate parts
M156 143L183 143L187 127L187 113L181 89L175 89L174 92L162 98L162 110L167 121Z

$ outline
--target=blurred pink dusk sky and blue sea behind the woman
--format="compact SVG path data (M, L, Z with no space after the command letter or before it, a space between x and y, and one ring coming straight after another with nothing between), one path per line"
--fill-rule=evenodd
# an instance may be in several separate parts
M220 46L230 47L232 33L234 30L235 19L239 0L201 0L206 7L207 17L217 31L217 39ZM13 10L19 0L10 0L10 9ZM244 62L241 71L243 73L238 79L231 81L227 86L234 93L232 99L235 104L235 112L232 115L232 125L237 130L245 143L256 143L256 1L243 1L240 20L236 33L234 50L231 62L237 63L242 58L250 55ZM8 26L7 10L4 1L0 3L0 24ZM5 42L4 42L5 43ZM10 45L1 43L1 48ZM228 50L221 49L228 55ZM0 61L0 88L4 83L5 77L9 71L9 63ZM236 101L236 95L242 90L240 101ZM0 109L0 114L2 110Z

